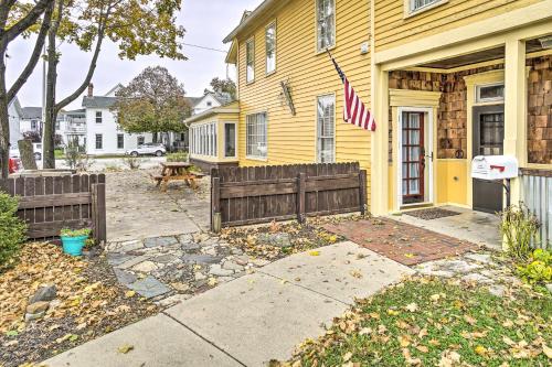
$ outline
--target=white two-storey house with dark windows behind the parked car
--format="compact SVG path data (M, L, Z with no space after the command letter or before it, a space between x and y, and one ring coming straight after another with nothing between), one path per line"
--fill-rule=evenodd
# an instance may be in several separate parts
M152 142L151 133L128 133L117 123L112 111L115 105L117 85L104 96L94 96L94 86L88 86L88 94L83 98L86 118L86 153L91 155L124 154L139 144Z

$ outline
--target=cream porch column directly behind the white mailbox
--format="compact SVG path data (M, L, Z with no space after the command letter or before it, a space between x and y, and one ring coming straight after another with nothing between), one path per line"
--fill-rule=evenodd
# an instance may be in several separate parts
M505 53L505 154L527 164L527 76L526 42L506 40ZM521 199L521 180L512 180L511 203Z

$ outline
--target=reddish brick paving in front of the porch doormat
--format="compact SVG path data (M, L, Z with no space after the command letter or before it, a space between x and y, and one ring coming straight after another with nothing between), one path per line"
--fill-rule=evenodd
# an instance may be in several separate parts
M348 220L323 227L406 266L444 259L478 248L467 241L386 218Z

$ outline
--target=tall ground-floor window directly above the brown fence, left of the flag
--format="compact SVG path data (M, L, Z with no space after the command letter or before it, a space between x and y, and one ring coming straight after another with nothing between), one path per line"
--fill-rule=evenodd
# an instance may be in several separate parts
M317 162L336 161L336 97L317 98Z

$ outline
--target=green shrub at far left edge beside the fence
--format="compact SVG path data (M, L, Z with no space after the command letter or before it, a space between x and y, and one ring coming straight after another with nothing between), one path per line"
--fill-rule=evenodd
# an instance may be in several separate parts
M26 225L17 212L18 199L0 192L0 272L13 265L25 240Z

